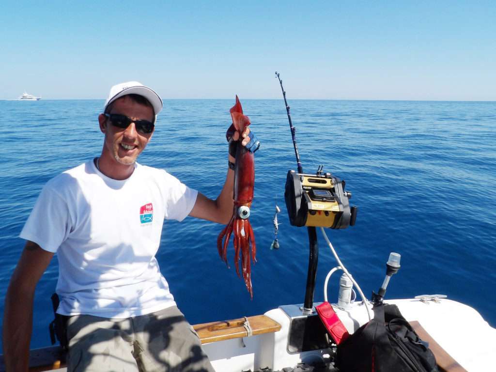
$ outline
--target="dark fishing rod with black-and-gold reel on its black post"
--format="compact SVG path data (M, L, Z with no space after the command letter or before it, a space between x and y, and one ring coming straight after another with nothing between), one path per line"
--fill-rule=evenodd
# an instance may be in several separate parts
M284 199L291 225L306 226L309 235L309 268L303 306L303 314L309 315L313 313L313 293L317 276L318 244L316 227L345 229L348 226L353 226L357 218L357 207L350 207L351 192L344 190L345 182L330 173L324 173L322 165L318 167L314 175L303 173L298 145L296 144L296 129L291 120L286 91L282 85L281 76L277 71L276 77L281 85L284 103L286 104L298 166L298 173L291 170L288 172Z

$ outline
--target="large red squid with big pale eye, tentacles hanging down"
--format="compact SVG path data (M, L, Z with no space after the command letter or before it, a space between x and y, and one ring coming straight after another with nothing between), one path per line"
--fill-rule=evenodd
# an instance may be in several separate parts
M248 292L253 299L251 286L251 262L256 262L256 246L253 229L249 223L251 201L253 200L253 186L255 184L255 160L253 153L241 145L241 133L250 124L247 116L243 115L243 108L236 96L236 104L230 110L233 124L240 134L240 144L236 149L236 163L234 168L234 209L233 217L217 238L217 249L221 259L227 262L227 246L234 231L234 264L236 273L240 276L239 259L241 250L241 268L243 279ZM223 242L224 241L224 242ZM251 255L251 257L250 257Z

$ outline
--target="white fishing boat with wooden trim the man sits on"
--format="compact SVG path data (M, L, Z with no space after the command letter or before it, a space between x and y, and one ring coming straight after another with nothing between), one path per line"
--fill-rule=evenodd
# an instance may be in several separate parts
M350 334L369 321L370 302L352 298L343 307L338 296L336 300L332 307ZM473 308L435 294L384 302L396 305L421 339L429 342L439 371L493 370L496 329ZM216 372L337 372L336 345L326 339L317 305L312 304L310 311L306 304L282 305L264 314L193 328ZM4 371L3 357L0 371ZM66 371L62 348L31 350L29 371Z

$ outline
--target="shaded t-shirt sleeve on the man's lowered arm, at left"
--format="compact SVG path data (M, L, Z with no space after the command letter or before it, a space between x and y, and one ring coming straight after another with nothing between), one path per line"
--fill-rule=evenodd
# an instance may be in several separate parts
M29 215L19 237L56 252L71 229L66 201L47 184Z

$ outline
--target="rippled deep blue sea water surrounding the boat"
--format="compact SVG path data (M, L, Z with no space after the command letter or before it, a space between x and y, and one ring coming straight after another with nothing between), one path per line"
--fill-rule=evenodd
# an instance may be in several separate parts
M180 309L191 323L260 314L303 303L308 267L306 229L289 224L286 173L296 168L281 100L243 100L262 145L256 153L251 224L258 262L254 299L217 254L221 225L186 218L166 221L158 260ZM224 133L233 100L166 100L142 164L165 168L211 198L227 169ZM346 180L359 207L357 224L327 234L341 259L370 294L390 251L401 269L386 298L446 294L496 326L496 103L406 101L289 101L306 173L324 170ZM98 156L103 101L0 101L0 313L23 248L18 234L42 186L63 170ZM270 250L275 203L279 250ZM319 237L315 301L336 266ZM229 251L233 262L233 249ZM31 346L50 343L50 295L55 258L35 297ZM337 285L329 285L336 301Z

